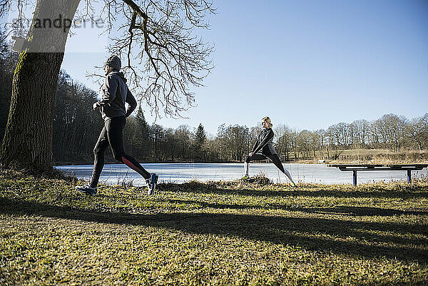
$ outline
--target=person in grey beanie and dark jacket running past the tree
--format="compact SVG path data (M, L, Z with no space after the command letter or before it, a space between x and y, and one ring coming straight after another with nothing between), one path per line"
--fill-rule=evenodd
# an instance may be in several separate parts
M104 127L98 138L98 142L93 149L95 160L91 183L88 185L77 186L76 189L82 193L96 195L96 187L104 166L104 153L110 146L113 157L121 163L128 165L129 168L146 179L148 184L148 195L152 195L158 175L148 173L137 161L125 153L123 149L123 128L126 124L126 117L136 109L136 98L133 97L126 85L126 78L123 76L121 69L121 59L118 56L111 56L104 65L106 80L102 89L102 98L100 101L93 103L93 110L99 109L104 119ZM128 108L125 108L128 103Z

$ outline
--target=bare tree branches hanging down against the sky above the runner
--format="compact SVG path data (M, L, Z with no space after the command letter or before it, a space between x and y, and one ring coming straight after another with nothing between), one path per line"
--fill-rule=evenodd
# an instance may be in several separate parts
M123 69L130 72L133 92L151 106L156 117L161 111L181 117L195 105L190 88L202 86L213 68L209 59L213 46L193 35L196 28L209 28L204 18L215 13L213 4L201 0L120 2L104 2L109 31L112 11L121 9L128 20L118 28L122 34L112 38L111 52L126 56Z

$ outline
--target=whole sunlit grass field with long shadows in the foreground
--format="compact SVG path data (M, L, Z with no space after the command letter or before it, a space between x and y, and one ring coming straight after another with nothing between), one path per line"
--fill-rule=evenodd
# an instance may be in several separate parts
M0 173L0 285L428 285L428 182L145 188Z

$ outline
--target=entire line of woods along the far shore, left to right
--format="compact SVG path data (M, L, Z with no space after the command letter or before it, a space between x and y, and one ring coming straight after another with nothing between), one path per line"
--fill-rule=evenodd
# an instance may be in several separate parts
M0 138L4 136L11 80L18 54L0 43ZM91 109L97 94L81 83L76 83L61 71L54 108L53 157L55 164L90 163L93 147L103 128L98 112ZM148 125L141 106L135 116L127 118L125 128L126 151L140 161L240 161L250 152L261 126L226 125L218 127L214 136L198 128L182 125L164 128ZM282 160L327 159L335 160L340 150L387 149L399 153L403 150L428 148L428 113L408 120L404 116L386 114L376 121L357 120L337 123L317 131L297 131L285 125L274 126L275 148ZM31 140L31 138L29 138ZM107 157L113 162L113 158Z

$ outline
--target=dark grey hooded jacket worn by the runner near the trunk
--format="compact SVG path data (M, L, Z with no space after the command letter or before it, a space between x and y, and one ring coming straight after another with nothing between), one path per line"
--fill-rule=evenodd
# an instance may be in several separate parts
M137 107L136 98L129 91L122 72L114 70L108 73L101 92L101 99L96 105L100 108L104 121L118 116L128 117ZM128 103L128 108L125 103Z

